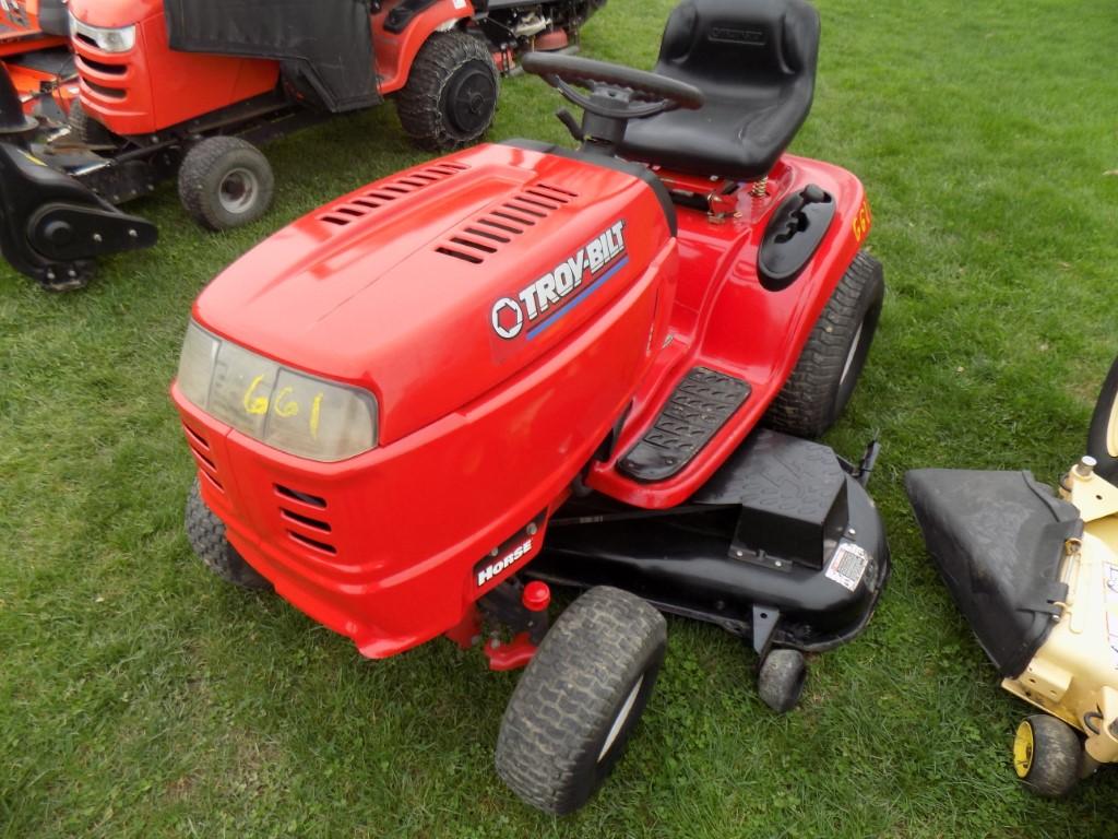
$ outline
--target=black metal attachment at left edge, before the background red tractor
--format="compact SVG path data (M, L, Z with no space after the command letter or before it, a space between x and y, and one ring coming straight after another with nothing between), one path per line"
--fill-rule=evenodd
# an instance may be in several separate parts
M2 68L0 68L2 69ZM155 226L121 213L23 149L37 124L0 72L0 253L51 291L85 285L94 260L155 244Z

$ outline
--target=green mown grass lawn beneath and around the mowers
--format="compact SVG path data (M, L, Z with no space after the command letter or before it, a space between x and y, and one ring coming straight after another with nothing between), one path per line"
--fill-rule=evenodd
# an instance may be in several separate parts
M446 642L383 662L219 584L181 531L191 462L165 388L191 300L254 242L420 160L390 107L275 143L276 209L206 235L172 189L151 252L87 291L0 275L0 836L1110 837L1118 771L1025 794L997 687L931 568L904 470L1080 453L1118 351L1114 4L822 0L794 150L865 182L890 293L831 435L884 449L894 574L856 642L767 713L754 661L672 620L661 685L605 790L563 820L492 771L514 677ZM610 0L585 51L651 66L667 0ZM504 85L493 135L562 140L557 97Z

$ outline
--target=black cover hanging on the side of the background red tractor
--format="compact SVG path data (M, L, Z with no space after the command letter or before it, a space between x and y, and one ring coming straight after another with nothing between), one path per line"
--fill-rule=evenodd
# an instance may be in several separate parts
M332 113L381 101L369 0L165 0L171 48L273 58L296 91Z

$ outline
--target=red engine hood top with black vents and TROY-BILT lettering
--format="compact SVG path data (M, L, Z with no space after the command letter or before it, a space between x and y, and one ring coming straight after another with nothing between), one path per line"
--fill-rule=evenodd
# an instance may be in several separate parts
M372 390L381 441L509 379L627 289L671 236L641 178L483 145L280 230L195 304L208 329Z

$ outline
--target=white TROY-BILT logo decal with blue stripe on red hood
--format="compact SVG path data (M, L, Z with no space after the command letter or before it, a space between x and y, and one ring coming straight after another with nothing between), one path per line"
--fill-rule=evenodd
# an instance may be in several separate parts
M567 260L523 289L493 304L493 331L511 341L528 328L530 341L601 287L628 262L625 220L618 220Z

